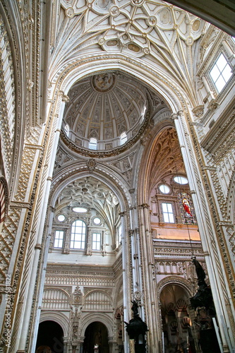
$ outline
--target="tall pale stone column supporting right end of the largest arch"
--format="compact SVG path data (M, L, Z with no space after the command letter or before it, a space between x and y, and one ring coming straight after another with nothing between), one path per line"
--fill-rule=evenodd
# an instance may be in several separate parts
M210 287L215 302L222 345L224 347L224 352L228 352L227 337L230 330L227 329L227 326L229 327L229 313L227 311L225 298L227 296L227 289L225 289L226 284L224 282L226 278L222 275L222 268L220 265L223 261L219 253L220 245L217 243L217 237L215 236L215 234L217 234L217 229L215 229L211 221L212 216L210 215L210 206L208 205L207 198L203 196L203 193L205 194L203 181L200 179L199 167L195 162L196 157L193 151L193 143L191 142L186 127L186 119L183 115L183 111L172 114L171 119L174 120L176 126L183 162L186 167L188 184L191 188L191 196L193 198L195 214L198 220L200 239L205 253L207 273L210 278ZM215 205L215 208L216 207L217 205ZM227 325L224 325L224 321L227 321ZM230 316L230 323L231 321L234 323L234 318L231 318ZM231 338L231 340L233 339Z

